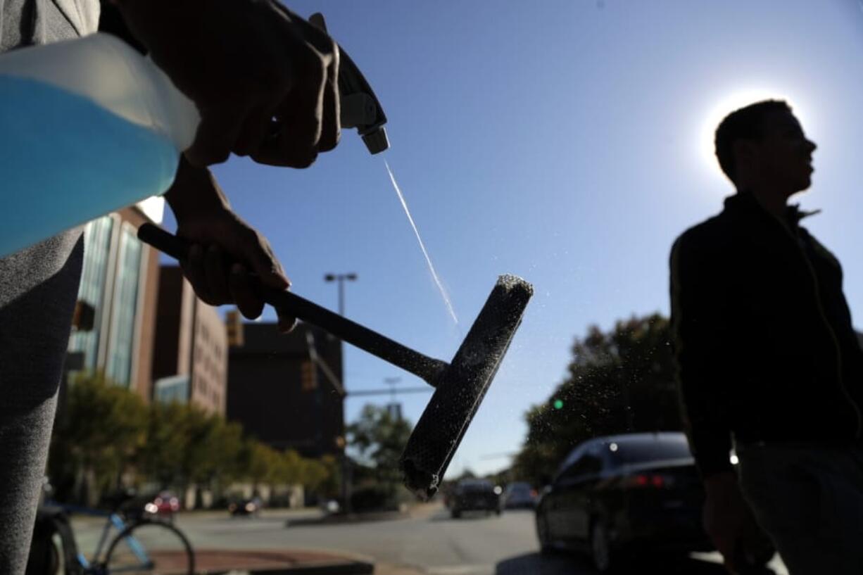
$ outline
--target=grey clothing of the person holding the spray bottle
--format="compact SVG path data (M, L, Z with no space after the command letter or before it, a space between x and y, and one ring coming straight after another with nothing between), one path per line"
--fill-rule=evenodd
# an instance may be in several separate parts
M0 0L0 52L89 34L98 17L98 0ZM2 575L26 566L83 252L76 230L0 258Z

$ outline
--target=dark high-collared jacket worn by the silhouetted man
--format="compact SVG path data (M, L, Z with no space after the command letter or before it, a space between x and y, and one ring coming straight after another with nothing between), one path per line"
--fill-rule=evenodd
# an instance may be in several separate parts
M741 444L860 439L863 352L836 258L750 193L677 238L671 325L690 446L703 476Z

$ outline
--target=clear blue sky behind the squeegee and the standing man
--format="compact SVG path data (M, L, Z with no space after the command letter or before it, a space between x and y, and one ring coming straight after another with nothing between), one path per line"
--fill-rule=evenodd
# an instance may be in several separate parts
M590 324L667 313L674 237L732 192L706 151L741 92L789 98L819 143L806 223L843 262L863 325L863 10L856 0L287 2L322 11L389 117L393 167L461 325L431 281L387 177L355 132L305 171L215 168L274 245L294 291L449 360L497 275L532 281L524 324L450 474L508 464L523 414ZM754 91L754 92L753 92ZM737 98L735 100L735 98ZM728 110L723 109L728 108ZM271 317L268 311L265 319ZM348 348L348 389L401 376ZM386 401L386 397L381 398ZM406 395L412 420L425 395ZM356 417L363 398L349 399Z

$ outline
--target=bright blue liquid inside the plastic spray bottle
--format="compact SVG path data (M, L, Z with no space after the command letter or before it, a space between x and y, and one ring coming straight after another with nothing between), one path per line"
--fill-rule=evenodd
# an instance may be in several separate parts
M0 257L173 182L173 142L90 99L0 74L0 103Z

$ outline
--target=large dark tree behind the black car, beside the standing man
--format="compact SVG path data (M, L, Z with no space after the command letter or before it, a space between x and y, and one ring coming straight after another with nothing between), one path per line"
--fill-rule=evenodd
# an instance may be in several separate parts
M620 320L608 333L592 326L572 355L564 382L525 414L516 477L544 483L575 445L595 436L682 428L668 319Z

